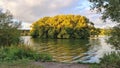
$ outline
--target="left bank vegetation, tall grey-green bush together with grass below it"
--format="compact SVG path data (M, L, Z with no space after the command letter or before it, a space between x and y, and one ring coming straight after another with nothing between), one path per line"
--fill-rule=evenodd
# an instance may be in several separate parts
M20 22L9 11L0 10L0 64L18 60L52 61L47 53L39 53L20 40Z

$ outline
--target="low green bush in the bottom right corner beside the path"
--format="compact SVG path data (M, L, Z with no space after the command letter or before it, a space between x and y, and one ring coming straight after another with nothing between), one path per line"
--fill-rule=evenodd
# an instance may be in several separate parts
M91 65L91 68L120 68L120 53L105 55L100 64Z

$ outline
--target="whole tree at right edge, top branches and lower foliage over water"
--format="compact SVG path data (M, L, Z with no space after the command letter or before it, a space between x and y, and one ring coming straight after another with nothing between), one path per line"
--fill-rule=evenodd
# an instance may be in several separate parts
M97 9L98 12L102 13L102 19L110 19L120 23L120 0L89 0L92 3L92 9ZM120 25L117 25L111 31L111 37L108 41L113 44L116 48L120 47ZM117 36L117 37L115 37ZM116 42L117 41L117 42ZM116 45L117 44L117 45Z

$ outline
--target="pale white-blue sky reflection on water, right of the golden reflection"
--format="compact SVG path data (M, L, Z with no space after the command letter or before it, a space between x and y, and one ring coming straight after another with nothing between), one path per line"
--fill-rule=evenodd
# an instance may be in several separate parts
M99 63L100 58L104 56L104 54L111 53L115 51L112 45L106 43L106 39L108 37L99 37L97 39L90 40L90 44L92 45L89 50L85 53L86 56L81 60L82 62L87 63Z

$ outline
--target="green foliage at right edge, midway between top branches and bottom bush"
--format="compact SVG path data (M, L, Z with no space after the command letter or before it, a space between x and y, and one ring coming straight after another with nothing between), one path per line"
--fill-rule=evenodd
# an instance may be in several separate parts
M114 45L117 49L120 48L120 25L117 25L112 29L111 36L107 42Z

